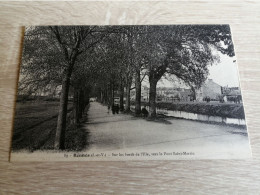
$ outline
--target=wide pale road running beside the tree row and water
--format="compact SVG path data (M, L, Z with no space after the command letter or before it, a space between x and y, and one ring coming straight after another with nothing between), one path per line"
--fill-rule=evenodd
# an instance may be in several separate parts
M147 121L126 114L113 115L92 102L88 122L87 151L190 151L205 158L239 158L250 155L247 136L234 134L234 127L184 119L168 123Z

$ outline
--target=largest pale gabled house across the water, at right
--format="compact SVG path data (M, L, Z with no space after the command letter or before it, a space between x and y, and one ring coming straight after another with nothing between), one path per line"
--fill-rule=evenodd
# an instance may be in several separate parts
M196 99L203 101L204 98L209 97L211 100L219 100L221 94L221 86L212 79L208 79L201 88L196 91Z

